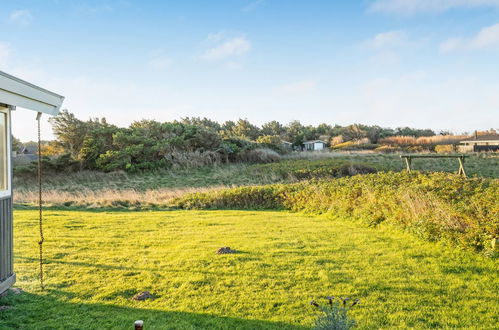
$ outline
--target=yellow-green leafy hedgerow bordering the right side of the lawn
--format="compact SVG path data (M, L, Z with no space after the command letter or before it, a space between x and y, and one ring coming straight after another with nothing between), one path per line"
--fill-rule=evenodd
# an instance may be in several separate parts
M447 173L376 173L189 194L184 209L287 209L385 223L475 250L499 237L499 180Z

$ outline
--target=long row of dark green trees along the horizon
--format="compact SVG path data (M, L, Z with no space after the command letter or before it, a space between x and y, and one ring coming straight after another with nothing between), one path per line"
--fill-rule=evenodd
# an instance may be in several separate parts
M81 120L67 110L50 122L57 140L44 146L45 154L67 154L66 159L78 161L81 168L105 171L166 167L175 153L209 152L226 162L237 161L238 155L255 148L284 152L282 141L299 147L303 141L312 139L331 144L360 139L377 143L382 138L396 135L435 135L431 130L408 127L306 126L299 121L287 125L271 121L259 127L246 119L220 124L196 117L165 123L141 120L129 127L118 127L105 118Z

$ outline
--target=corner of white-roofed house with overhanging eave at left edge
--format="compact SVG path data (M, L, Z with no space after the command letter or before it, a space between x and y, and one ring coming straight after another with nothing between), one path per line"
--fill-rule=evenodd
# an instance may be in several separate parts
M0 294L11 287L13 267L11 114L19 109L56 115L64 97L0 71ZM36 127L33 114L33 127Z

